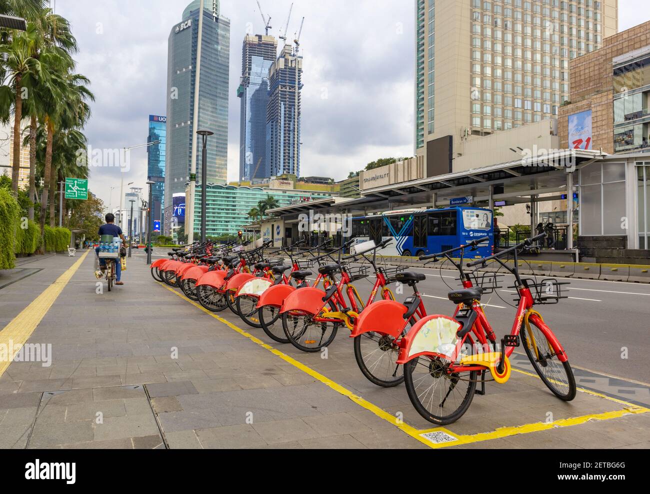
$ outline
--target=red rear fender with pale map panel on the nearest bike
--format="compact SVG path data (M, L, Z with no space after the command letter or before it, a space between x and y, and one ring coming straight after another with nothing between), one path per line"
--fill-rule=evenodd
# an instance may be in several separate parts
M444 357L450 354L449 350L453 349L457 340L456 332L461 327L462 325L456 319L448 315L435 314L422 317L402 338L396 364L406 364L421 355ZM447 344L452 347L447 347Z

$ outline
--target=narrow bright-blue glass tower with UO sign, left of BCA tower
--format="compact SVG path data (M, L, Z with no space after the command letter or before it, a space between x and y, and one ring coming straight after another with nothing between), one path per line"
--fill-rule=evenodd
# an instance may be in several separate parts
M151 221L160 221L164 206L165 146L167 141L167 117L149 115L147 142L160 141L147 148L148 179L156 182L151 186Z

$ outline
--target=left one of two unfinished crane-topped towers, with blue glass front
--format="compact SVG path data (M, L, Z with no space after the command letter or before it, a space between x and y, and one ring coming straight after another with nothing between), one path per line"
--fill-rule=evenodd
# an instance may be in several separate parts
M268 69L276 60L278 42L273 36L247 35L242 45L242 76L237 96L241 99L239 179L270 177L266 160L266 112Z

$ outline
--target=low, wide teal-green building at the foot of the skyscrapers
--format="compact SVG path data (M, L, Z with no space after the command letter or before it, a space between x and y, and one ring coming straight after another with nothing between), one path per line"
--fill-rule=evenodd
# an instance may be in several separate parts
M313 199L331 197L330 193L318 191L208 184L206 198L207 210L205 212L206 235L236 235L240 228L251 222L251 219L248 217L248 212L252 208L257 208L257 203L266 199L266 195L275 197L280 206L288 206L294 202L302 201L305 197L311 197ZM194 208L194 232L196 232L196 235L200 235L200 185L196 186Z

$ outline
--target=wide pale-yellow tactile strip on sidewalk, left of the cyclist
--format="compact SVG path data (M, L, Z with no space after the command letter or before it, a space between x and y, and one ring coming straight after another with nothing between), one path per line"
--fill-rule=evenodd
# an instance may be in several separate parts
M57 300L57 297L61 294L66 284L72 278L72 275L75 274L81 263L84 261L89 251L86 251L75 264L70 266L65 273L60 275L53 284L45 288L45 290L36 297L25 307L20 314L16 315L8 325L6 325L0 331L0 347L3 349L10 349L11 354L6 354L6 360L3 356L0 356L0 376L2 376L14 356L20 351L21 347L25 344L25 341L29 339L36 327L40 324L47 311L50 309L53 303Z

